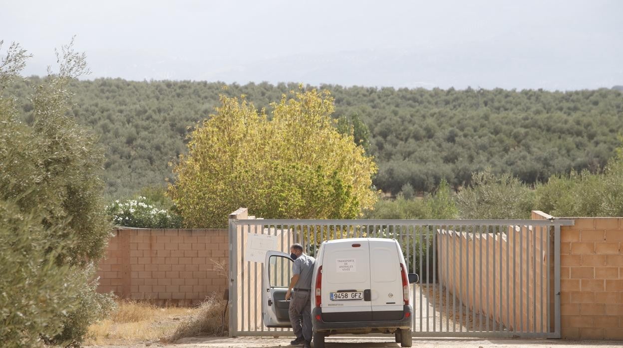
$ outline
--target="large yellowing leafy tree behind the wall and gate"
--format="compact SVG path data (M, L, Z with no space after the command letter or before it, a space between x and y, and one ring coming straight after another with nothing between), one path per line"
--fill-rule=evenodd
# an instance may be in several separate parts
M290 92L272 118L221 96L216 114L189 136L169 195L188 227L225 227L239 207L273 219L352 219L372 207L377 167L353 134L333 126L327 91Z

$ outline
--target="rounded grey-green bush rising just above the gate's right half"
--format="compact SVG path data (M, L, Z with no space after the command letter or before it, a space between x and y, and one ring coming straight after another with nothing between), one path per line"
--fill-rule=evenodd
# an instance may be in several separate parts
M470 186L457 195L457 207L462 219L529 219L534 200L516 177L487 169L473 174Z

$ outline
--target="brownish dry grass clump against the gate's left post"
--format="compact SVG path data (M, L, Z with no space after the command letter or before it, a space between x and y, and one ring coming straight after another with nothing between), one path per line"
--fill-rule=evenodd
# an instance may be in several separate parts
M183 337L223 336L227 332L226 309L227 301L217 298L216 294L206 298L195 315L179 324L171 335L171 342Z

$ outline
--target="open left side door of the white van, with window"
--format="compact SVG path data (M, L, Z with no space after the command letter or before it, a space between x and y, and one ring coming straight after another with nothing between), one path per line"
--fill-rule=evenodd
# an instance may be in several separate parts
M285 293L292 278L293 261L290 255L268 251L264 262L262 289L262 319L267 327L292 327Z

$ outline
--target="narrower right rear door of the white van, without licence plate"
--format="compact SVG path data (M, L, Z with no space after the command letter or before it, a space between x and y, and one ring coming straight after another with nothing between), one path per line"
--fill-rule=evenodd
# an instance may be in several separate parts
M371 306L374 321L399 320L404 315L401 257L397 242L370 238Z

